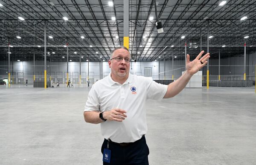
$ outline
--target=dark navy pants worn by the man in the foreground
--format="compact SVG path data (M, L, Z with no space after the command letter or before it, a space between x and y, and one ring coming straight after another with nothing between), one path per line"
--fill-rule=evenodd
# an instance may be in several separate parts
M105 139L102 154L107 145L108 140ZM109 142L108 149L111 150L111 160L110 163L103 162L103 165L148 165L149 149L145 136L125 147Z

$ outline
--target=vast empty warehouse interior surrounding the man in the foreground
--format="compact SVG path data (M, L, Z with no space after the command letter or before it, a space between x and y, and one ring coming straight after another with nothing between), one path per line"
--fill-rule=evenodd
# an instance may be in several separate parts
M256 0L0 0L0 16L0 164L102 164L82 113L118 46L161 84L186 54L211 56L179 95L147 101L149 164L256 164Z

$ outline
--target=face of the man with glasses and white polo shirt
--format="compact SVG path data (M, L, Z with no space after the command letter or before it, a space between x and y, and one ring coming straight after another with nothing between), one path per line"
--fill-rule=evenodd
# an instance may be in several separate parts
M116 57L122 58L121 61L116 61ZM112 76L119 77L119 78L128 78L129 70L130 70L130 62L125 62L125 58L130 59L130 53L126 49L117 49L113 52L111 58L112 60L108 61L108 66L111 68Z

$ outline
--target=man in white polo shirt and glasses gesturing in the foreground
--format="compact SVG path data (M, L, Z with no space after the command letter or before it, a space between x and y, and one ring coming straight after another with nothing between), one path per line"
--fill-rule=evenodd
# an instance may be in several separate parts
M186 72L169 85L150 78L131 75L131 56L127 48L117 47L108 65L111 73L93 84L84 110L84 120L101 123L103 165L148 165L145 103L147 99L171 98L186 86L189 79L207 64L209 53L194 61L187 55Z

